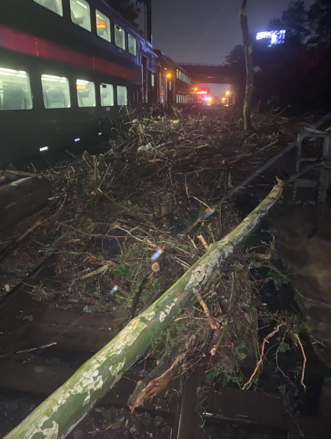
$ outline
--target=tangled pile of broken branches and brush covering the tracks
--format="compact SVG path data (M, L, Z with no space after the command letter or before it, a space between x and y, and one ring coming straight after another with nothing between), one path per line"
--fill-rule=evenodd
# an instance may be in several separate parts
M54 278L33 288L36 300L82 313L121 309L127 320L134 317L240 223L236 205L219 200L293 140L287 119L265 117L261 126L246 134L230 112L206 118L179 110L174 117L115 125L107 152L85 151L44 173L55 195L42 221L36 214L21 223L20 230L31 233L25 247L2 262L3 290L22 277L27 261L56 255ZM274 183L274 177L264 181ZM3 247L19 235L13 229ZM197 297L201 306L189 305L151 347L150 355L166 358L160 364L163 372L171 369L168 379L189 373L208 356L207 381L256 386L271 337L278 339L276 357L298 345L304 323L271 313L257 294L270 280L288 282L277 259L271 240L253 253L241 249L212 277ZM264 277L256 271L261 267ZM262 340L261 325L274 328ZM191 333L194 341L187 343ZM249 376L240 370L247 357L258 363ZM131 399L131 408L153 396L150 382Z

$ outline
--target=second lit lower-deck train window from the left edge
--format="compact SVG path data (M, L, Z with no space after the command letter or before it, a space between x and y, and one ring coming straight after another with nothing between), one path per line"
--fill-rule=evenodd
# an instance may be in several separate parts
M45 108L70 108L69 81L60 76L41 75Z

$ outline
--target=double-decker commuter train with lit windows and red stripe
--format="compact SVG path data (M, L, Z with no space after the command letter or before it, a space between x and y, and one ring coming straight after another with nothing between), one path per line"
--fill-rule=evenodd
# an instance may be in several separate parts
M106 138L125 106L186 105L191 78L102 0L0 1L0 164Z

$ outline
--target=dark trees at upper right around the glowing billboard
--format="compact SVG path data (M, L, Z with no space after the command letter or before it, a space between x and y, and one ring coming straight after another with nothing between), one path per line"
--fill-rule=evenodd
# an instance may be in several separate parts
M304 1L295 1L281 18L271 20L269 29L285 29L286 39L284 44L268 47L252 36L258 71L254 79L254 105L260 102L264 111L289 105L295 113L330 105L331 0L316 0L309 9L305 9ZM242 46L232 50L226 63L237 76L241 105L245 86Z

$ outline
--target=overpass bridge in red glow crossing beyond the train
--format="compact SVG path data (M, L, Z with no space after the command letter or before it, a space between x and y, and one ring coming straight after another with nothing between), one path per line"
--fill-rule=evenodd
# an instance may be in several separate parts
M193 79L201 84L235 84L232 67L221 64L178 63Z

